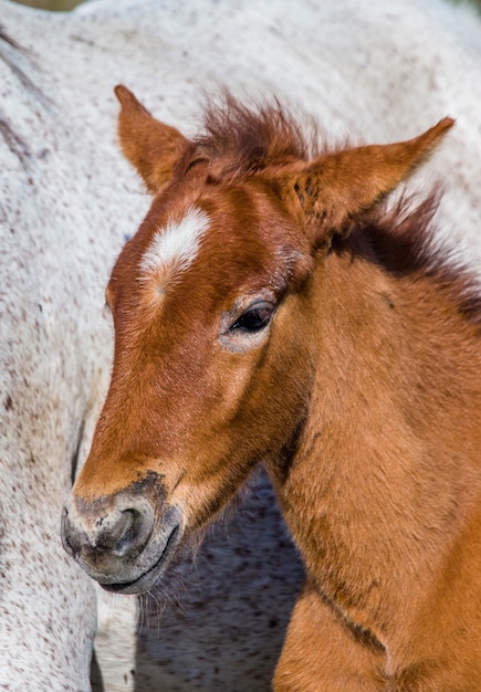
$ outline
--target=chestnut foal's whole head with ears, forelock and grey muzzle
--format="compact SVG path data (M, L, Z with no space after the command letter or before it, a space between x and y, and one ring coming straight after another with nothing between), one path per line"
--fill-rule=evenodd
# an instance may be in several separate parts
M62 534L105 588L139 593L259 461L292 445L311 405L314 277L332 238L452 120L309 160L280 108L228 99L190 141L116 93L124 153L154 201L106 290L111 387Z

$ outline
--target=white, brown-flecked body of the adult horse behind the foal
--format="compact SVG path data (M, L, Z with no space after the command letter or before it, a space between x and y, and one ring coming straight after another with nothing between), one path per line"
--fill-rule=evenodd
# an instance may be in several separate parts
M187 134L199 94L221 85L275 94L354 141L451 115L410 188L443 184L445 240L475 266L481 28L440 0L98 0L64 15L0 0L0 28L28 51L0 40L0 689L83 692L96 597L59 517L108 376L103 289L149 203L116 144L113 86ZM159 619L147 604L136 641L135 601L104 599L106 692L134 690L134 668L136 692L269 689L302 572L258 489L250 514L180 564L184 610Z

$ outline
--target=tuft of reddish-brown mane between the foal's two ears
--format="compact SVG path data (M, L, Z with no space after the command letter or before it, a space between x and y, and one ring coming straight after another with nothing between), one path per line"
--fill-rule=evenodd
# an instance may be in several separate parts
M279 101L249 107L226 93L222 103L208 102L203 133L194 139L187 161L215 160L217 175L239 180L317 156L317 140L315 123L301 126Z

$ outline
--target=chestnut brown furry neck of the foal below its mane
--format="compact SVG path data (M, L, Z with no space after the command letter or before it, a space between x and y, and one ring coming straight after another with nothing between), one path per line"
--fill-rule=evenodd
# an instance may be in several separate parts
M389 271L368 241L320 259L315 384L273 476L310 579L377 636L395 605L416 611L414 584L421 600L479 504L481 358L457 286Z

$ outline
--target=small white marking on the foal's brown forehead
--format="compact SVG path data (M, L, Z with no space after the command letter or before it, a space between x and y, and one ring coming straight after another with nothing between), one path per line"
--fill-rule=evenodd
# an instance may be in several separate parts
M156 232L142 259L142 279L155 279L157 290L161 292L168 281L192 263L208 228L209 217L195 208L189 209L180 221L167 223Z

